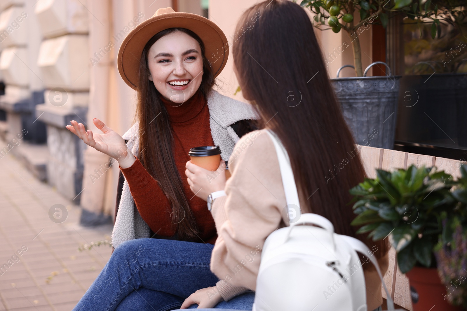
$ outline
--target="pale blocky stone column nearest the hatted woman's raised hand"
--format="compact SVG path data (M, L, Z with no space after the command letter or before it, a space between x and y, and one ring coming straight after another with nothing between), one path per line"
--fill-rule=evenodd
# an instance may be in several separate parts
M46 90L36 116L47 124L49 183L66 198L79 202L85 144L65 125L77 120L88 126L88 11L85 0L38 0L34 13L43 40L37 56Z

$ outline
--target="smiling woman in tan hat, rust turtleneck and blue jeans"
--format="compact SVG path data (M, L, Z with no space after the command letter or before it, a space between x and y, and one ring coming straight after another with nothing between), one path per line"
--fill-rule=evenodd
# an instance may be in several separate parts
M227 57L226 36L212 21L159 9L119 50L120 75L137 91L133 127L122 138L96 118L103 133L76 121L66 126L117 159L125 176L115 251L75 310L171 310L193 291L216 286L209 267L214 221L182 176L191 147L219 145L227 160L248 120L257 118L250 105L212 90ZM251 307L253 295L229 303Z

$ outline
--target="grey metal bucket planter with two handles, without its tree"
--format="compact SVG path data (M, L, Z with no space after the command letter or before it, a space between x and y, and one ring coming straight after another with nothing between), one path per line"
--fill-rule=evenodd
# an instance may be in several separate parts
M377 148L393 149L396 132L397 98L401 76L366 76L370 64L362 77L331 79L337 99L347 125L354 135L355 142Z

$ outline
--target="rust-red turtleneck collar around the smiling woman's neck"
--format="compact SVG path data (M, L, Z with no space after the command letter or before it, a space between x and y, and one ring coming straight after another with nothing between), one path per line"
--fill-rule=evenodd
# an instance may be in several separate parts
M162 96L161 100L169 114L169 121L172 123L183 123L193 119L206 104L206 99L200 90L183 104L171 102Z

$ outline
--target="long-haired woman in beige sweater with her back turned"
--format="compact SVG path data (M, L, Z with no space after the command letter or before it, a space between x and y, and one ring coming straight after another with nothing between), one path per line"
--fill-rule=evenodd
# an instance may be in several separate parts
M209 183L203 168L191 161L186 165L192 192L204 200L211 194L208 204L219 235L212 250L211 270L219 279L238 286L231 288L232 295L241 293L241 288L255 290L261 259L258 249L269 234L285 226L286 200L276 150L266 131L270 130L289 155L302 213L324 216L336 233L365 242L384 275L388 269L387 243L356 235L358 228L350 225L356 215L348 204L352 199L348 190L366 174L355 155L354 139L327 76L311 21L292 1L266 0L246 11L236 30L258 12L261 19L255 28L233 46L233 59L243 97L257 109L265 129L237 142L227 182L221 174ZM333 173L343 159L347 159L345 166ZM233 267L239 269L233 271ZM382 287L376 269L364 263L363 272L368 310L381 310ZM203 304L212 291L198 290L182 307Z

